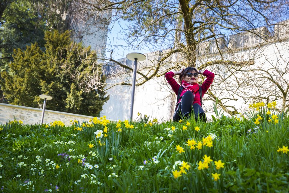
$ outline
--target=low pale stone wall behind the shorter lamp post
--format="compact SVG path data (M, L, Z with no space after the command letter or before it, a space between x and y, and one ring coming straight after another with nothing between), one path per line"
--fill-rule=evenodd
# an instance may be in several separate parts
M17 106L0 103L0 124L5 124L9 120L21 120L23 124L39 124L41 122L42 109ZM77 115L67 112L58 112L45 110L43 123L50 123L53 121L62 121L65 125L70 125L70 120L89 121L91 116Z

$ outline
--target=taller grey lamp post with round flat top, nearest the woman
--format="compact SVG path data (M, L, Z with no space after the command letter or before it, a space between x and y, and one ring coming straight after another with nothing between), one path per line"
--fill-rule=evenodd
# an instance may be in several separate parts
M141 54L141 53L132 52L132 53L127 54L126 58L129 59L129 60L134 61L133 76L132 76L132 102L130 104L130 112L129 112L130 120L132 120L133 102L134 102L134 99L135 99L136 68L137 68L138 61L145 60L146 56L144 54Z

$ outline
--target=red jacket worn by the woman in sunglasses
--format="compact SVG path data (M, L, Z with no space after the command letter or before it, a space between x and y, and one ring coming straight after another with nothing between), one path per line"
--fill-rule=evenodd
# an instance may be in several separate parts
M205 70L204 71L204 76L206 76L206 80L203 82L203 84L201 85L201 88L202 88L202 96L204 96L204 94L207 92L207 90L209 89L209 87L211 86L211 84L213 83L213 80L214 80L214 77L215 77L215 74L213 72L210 72L208 70ZM169 85L171 85L172 87L172 90L176 93L176 95L178 94L178 91L179 91L179 87L181 85L179 85L177 83L177 81L173 78L174 76L174 73L171 71L171 72L168 72L166 73L165 77L166 77L166 80L168 81ZM183 94L185 93L185 91L183 90L181 95L182 96ZM194 98L194 103L198 103L199 105L201 105L201 99L200 99L200 93L199 92L196 92L195 93L195 98Z

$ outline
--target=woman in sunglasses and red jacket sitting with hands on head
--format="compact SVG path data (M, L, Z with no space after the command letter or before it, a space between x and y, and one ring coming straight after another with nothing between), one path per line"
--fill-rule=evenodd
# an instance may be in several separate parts
M198 84L199 74L203 74L207 77L207 79L201 86ZM175 75L179 75L179 83L181 85L179 85L177 81L173 78L173 76ZM166 73L165 77L176 95L178 95L178 92L180 91L180 99L179 101L177 101L173 120L178 121L183 117L188 117L190 116L191 112L194 111L196 119L199 116L201 120L206 122L207 117L201 107L202 104L200 93L203 97L204 94L207 92L208 88L213 83L215 74L208 70L198 71L196 68L188 67L182 68L180 71L177 72L170 71ZM201 92L199 92L199 89Z

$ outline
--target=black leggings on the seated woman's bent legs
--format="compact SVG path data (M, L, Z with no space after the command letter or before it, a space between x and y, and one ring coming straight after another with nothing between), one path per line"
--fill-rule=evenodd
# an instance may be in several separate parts
M196 120L198 116L200 116L200 119L206 122L207 117L204 110L198 103L194 103L192 105L193 101L194 101L194 93L192 93L191 91L186 91L182 96L180 103L176 107L173 120L179 121L184 117L189 117L191 115L191 112L194 112Z

